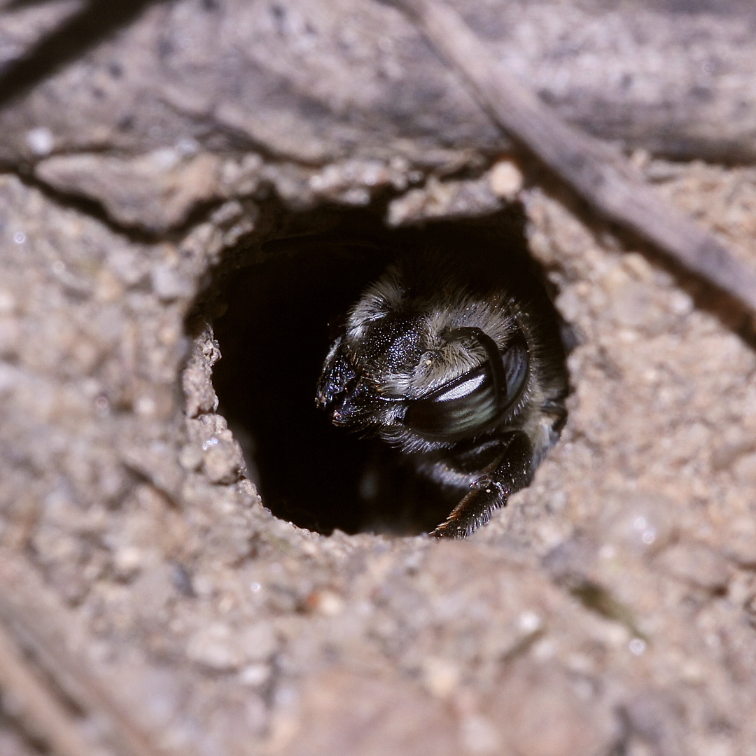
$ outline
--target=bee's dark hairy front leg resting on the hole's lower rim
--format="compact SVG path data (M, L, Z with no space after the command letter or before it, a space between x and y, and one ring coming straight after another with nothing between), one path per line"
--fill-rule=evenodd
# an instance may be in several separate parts
M485 525L493 510L503 507L511 494L531 482L532 468L530 438L523 432L514 432L495 468L470 485L469 494L431 535L436 538L464 538Z

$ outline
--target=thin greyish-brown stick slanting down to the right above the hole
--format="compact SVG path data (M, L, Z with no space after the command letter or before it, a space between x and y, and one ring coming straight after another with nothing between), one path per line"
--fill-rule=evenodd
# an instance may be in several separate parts
M593 209L756 313L756 271L633 175L618 151L566 124L509 76L456 11L443 0L392 2L414 18L432 48L462 74L498 125L571 184Z

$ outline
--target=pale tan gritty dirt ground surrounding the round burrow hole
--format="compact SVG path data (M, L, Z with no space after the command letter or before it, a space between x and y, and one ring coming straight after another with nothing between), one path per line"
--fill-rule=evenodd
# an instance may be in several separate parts
M144 155L98 163L97 206L59 194L73 163L0 175L0 754L67 742L6 652L82 756L756 754L747 316L550 181L504 191L489 153L472 178ZM756 169L634 163L756 267ZM161 175L168 200L144 214L153 184L129 216ZM562 441L464 541L275 518L218 414L218 281L375 187L395 224L522 203L578 337Z

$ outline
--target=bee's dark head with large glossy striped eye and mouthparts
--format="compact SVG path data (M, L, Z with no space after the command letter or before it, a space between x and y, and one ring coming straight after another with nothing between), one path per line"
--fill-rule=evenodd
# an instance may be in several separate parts
M427 313L386 314L358 331L336 339L318 385L318 404L348 429L454 442L500 423L527 383L519 331L503 352L479 327L435 334Z

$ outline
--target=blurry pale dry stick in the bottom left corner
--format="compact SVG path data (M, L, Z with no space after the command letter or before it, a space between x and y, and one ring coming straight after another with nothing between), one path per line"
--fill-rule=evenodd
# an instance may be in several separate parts
M0 622L8 634L6 638L12 639L8 640L12 645L5 656L0 648L0 685L7 684L8 689L22 698L25 693L33 691L29 682L34 679L33 674L28 669L23 674L9 662L11 656L8 654L12 655L12 646L27 649L82 711L104 723L107 740L115 746L118 754L165 756L163 751L151 744L150 737L124 711L110 689L88 671L86 659L68 647L66 637L70 634L71 622L67 612L36 577L35 567L20 555L5 553L0 556ZM0 633L0 646L3 635ZM39 681L37 684L41 686ZM36 692L39 693L40 689L37 688ZM57 714L65 716L64 709L60 704L57 704L57 710L49 705L54 701L50 692L46 696L48 706L39 708L33 720L31 716L29 720L39 727L40 733L50 738L51 745L58 747L60 756L88 756L95 752L92 745L78 751L65 750L66 745L73 746L71 738L76 725L68 717L66 727L57 717ZM38 700L42 701L42 698Z

